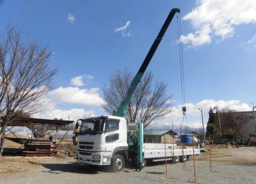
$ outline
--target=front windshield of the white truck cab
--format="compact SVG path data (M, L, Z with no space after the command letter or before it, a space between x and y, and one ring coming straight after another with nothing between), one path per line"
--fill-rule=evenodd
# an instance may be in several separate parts
M93 119L86 119L82 121L80 134L96 134L103 133L105 117L98 117Z

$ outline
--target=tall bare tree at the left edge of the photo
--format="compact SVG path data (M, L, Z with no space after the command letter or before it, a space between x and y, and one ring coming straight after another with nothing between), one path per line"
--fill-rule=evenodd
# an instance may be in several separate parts
M24 41L21 29L8 27L0 40L1 152L5 128L18 121L19 114L36 113L46 104L56 68L49 64L51 51L37 42ZM17 112L23 113L17 113Z

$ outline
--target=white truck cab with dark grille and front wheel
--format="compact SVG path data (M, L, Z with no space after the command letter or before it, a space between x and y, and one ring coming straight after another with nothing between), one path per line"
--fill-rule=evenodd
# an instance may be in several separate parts
M127 123L123 117L98 116L82 120L76 159L90 165L116 165L123 169L128 159ZM117 158L114 158L114 156ZM114 159L114 160L113 160Z

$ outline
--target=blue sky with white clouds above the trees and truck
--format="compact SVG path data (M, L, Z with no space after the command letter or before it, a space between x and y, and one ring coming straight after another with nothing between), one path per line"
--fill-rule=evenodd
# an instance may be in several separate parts
M252 1L0 1L0 32L23 28L26 38L49 45L53 78L47 107L34 117L72 120L105 114L101 87L110 73L142 64L169 11L180 8L185 97L190 126L198 108L251 110L255 99L256 2ZM148 71L168 84L174 107L156 126L182 120L177 18Z

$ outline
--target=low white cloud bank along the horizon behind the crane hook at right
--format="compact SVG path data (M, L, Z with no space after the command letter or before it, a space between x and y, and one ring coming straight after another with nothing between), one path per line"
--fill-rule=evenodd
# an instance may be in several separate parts
M188 121L188 126L189 127L194 127L194 128L201 128L202 122L201 122L201 112L199 110L203 110L203 120L204 120L204 129L206 129L207 121L209 118L209 110L210 107L216 106L216 104L219 107L219 110L229 108L231 110L236 110L236 111L251 111L252 108L246 104L246 103L241 103L239 100L229 100L229 101L224 101L224 100L202 100L199 103L187 103L186 108L186 117ZM180 124L182 123L183 120L183 112L182 112L182 105L178 105L175 107L172 107L172 112L168 114L168 116L165 117L165 119L159 120L155 124L153 124L153 127L157 127L161 129L162 127L169 127L171 128L172 122L174 123L175 129L180 129ZM183 126L187 125L187 121L183 121Z

